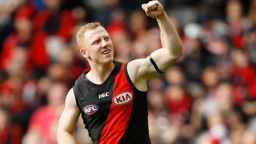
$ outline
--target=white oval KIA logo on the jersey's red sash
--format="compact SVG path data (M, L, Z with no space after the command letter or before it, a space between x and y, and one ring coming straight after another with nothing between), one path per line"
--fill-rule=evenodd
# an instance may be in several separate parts
M130 102L132 100L132 97L132 92L122 92L121 94L118 94L112 99L112 103L115 105L123 105Z

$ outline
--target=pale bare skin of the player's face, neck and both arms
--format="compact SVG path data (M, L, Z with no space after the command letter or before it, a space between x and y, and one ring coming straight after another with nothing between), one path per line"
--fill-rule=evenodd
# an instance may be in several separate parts
M183 54L182 42L178 33L173 28L163 6L157 1L150 1L142 5L143 10L149 17L156 18L161 30L161 43L163 48L152 52L158 68L165 72ZM96 84L103 83L114 69L113 44L108 32L97 27L95 30L85 32L85 48L80 49L80 53L85 57L91 70L85 75L87 79ZM104 52L110 51L108 54ZM147 90L147 81L159 76L150 60L135 59L127 65L128 74L138 90ZM73 131L80 116L80 110L76 105L73 89L67 94L65 109L61 114L58 127L58 144L75 144Z

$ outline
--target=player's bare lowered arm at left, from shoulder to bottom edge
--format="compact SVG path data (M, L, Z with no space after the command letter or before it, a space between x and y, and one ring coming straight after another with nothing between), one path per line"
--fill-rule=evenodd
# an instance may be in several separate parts
M58 144L76 144L73 132L79 116L80 110L76 105L74 91L70 89L66 97L65 109L59 119L57 132Z

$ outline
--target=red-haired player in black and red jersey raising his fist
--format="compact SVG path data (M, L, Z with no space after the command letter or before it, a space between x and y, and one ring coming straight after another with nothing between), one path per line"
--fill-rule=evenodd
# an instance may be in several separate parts
M99 23L87 24L78 31L80 52L91 68L85 70L67 94L59 120L59 144L75 144L72 133L80 113L94 144L150 144L147 81L173 65L183 54L183 48L157 0L143 4L142 8L158 21L163 46L145 59L113 61L113 44Z

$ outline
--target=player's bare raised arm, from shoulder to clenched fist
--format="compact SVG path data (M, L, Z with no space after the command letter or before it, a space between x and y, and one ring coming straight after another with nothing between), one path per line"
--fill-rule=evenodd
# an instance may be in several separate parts
M153 0L143 4L142 8L149 17L156 18L158 22L163 48L152 52L151 56L160 71L165 72L182 56L182 42L160 2ZM142 91L147 90L148 79L160 75L148 57L131 61L128 63L127 70L135 87Z

